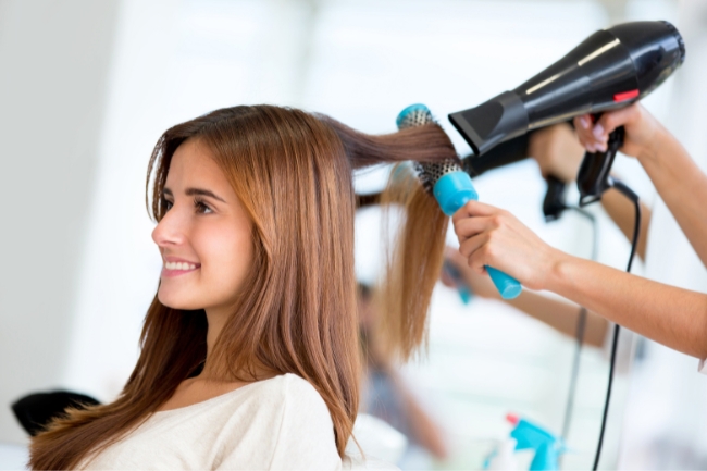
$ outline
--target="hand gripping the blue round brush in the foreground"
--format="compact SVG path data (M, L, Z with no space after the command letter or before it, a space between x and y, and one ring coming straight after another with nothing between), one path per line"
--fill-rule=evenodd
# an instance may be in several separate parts
M469 201L452 218L459 252L476 273L489 265L531 289L544 289L565 256L501 209Z

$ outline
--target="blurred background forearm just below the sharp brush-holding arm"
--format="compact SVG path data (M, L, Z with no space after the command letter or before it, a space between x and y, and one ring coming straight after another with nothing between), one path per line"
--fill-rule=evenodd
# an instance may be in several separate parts
M516 299L506 302L565 335L570 337L576 335L576 324L581 309L576 305L549 298L528 289L523 290ZM590 312L584 326L584 343L595 347L604 346L607 330L607 321Z

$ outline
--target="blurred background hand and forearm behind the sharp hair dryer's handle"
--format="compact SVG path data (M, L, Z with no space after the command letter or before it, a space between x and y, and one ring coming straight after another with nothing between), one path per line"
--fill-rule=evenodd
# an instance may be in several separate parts
M578 140L578 136L567 123L556 124L535 131L528 145L528 153L537 161L544 178L553 175L565 183L574 182L582 163L585 149ZM611 188L601 197L601 206L623 235L633 238L633 203ZM648 241L648 225L650 223L650 209L641 202L641 235L638 237L637 253L645 260L646 245Z

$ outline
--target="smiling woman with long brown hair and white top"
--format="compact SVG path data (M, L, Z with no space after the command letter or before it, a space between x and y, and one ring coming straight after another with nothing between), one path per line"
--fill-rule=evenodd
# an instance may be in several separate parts
M168 129L148 168L164 265L137 365L114 402L39 434L32 468L340 468L359 400L351 172L449 158L436 125L368 136L269 106ZM388 276L388 289L419 292L390 323L409 355L447 219L421 185L406 198L400 246L431 255Z

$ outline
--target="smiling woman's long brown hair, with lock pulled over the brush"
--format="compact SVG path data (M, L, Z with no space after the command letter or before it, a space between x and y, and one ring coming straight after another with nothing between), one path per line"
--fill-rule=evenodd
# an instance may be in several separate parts
M214 363L223 365L226 380L253 381L256 367L265 367L309 381L328 407L344 456L358 409L360 368L352 170L456 158L454 147L436 125L369 136L295 109L221 109L178 124L159 139L147 182L157 221L164 214L162 189L172 156L187 139L208 146L253 222L250 276L216 340ZM406 351L424 330L447 224L421 185L408 194L414 201L402 232L409 273L394 276L390 290L413 295L393 311L400 315L408 309L407 320L393 322L401 327L396 342ZM414 253L415 240L422 243L421 255ZM202 310L172 309L156 297L145 319L140 357L119 398L70 410L52 422L32 443L32 468L75 468L147 420L198 371L206 359L207 329Z

